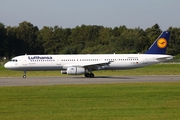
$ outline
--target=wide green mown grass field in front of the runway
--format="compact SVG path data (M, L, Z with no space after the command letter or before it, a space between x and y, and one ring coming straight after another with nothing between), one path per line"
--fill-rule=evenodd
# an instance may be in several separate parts
M180 83L0 87L1 120L178 120Z

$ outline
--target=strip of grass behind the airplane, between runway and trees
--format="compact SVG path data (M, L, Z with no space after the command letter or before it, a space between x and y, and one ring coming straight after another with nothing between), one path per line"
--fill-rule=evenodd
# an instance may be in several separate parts
M106 70L95 71L95 76L129 76L129 75L180 75L180 64L155 64L138 69L130 70ZM0 66L0 77L19 77L22 71L7 70ZM67 76L60 71L27 71L27 76Z

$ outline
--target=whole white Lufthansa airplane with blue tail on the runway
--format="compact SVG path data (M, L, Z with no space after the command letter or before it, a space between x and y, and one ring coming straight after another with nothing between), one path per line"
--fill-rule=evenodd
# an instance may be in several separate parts
M93 78L96 70L124 70L140 68L173 59L166 55L170 37L164 31L144 54L76 54L76 55L21 55L12 58L4 67L10 70L50 71Z

